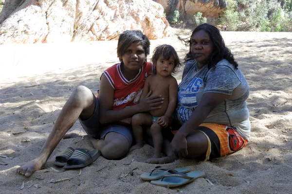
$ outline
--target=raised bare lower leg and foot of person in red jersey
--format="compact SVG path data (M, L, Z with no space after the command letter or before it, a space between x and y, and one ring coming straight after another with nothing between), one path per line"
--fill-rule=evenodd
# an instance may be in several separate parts
M17 172L25 177L40 170L65 133L73 126L80 116L83 120L90 118L95 108L92 92L85 86L78 86L61 110L52 131L36 159L19 167Z

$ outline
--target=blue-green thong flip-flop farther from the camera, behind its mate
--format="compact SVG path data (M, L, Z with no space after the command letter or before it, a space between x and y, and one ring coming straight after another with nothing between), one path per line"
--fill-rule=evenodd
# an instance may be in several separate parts
M157 170L161 170L161 172L154 172ZM153 170L151 170L150 173L143 173L140 178L142 178L143 180L156 180L159 178L163 178L164 176L164 172L168 171L168 170L172 170L172 171L176 171L179 173L187 173L189 172L191 169L188 167L183 167L183 168L169 168L169 167L162 167L162 166L156 166Z

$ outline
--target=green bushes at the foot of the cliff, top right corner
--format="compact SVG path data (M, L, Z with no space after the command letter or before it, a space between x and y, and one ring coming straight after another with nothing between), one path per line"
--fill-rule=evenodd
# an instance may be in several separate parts
M226 0L226 4L219 24L229 31L292 30L292 0Z

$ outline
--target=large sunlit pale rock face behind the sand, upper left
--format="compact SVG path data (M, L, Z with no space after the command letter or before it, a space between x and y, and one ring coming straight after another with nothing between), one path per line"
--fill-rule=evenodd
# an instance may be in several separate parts
M172 33L163 13L152 0L6 0L0 44L112 40L125 30L158 39Z

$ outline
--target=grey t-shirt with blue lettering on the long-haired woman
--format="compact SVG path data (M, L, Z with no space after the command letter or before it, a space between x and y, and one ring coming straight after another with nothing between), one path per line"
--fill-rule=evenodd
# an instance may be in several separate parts
M246 99L249 86L239 68L227 60L221 60L216 68L207 66L199 69L195 60L188 61L179 84L176 119L183 125L200 104L204 93L214 92L229 95L204 120L204 123L217 123L236 127L237 132L249 140L251 125Z

